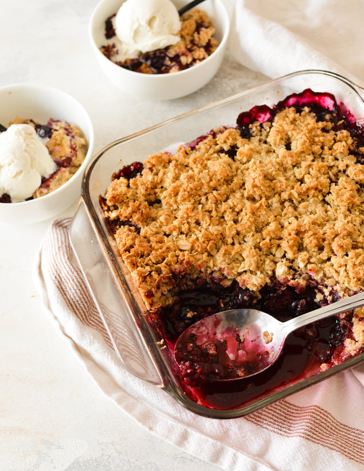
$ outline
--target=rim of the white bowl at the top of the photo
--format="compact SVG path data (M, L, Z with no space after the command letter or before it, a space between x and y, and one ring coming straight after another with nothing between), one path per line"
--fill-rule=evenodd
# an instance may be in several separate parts
M132 76L135 77L135 74L138 73L139 76L148 77L147 80L161 80L161 77L164 77L164 80L166 80L166 77L173 77L176 74L178 74L178 76L180 76L182 73L189 73L189 71L191 71L191 70L196 70L196 67L199 67L202 64L206 64L206 63L208 63L208 61L211 62L210 58L215 57L215 53L218 52L219 49L222 49L226 46L226 42L227 42L228 37L229 37L230 18L229 18L229 15L227 13L226 6L224 5L224 3L221 0L212 0L212 1L215 1L216 3L218 3L218 5L221 8L221 11L224 12L223 13L223 15L224 15L223 24L226 24L226 31L225 32L222 31L223 34L222 34L221 41L218 43L218 47L214 50L214 52L212 54L210 54L209 57L206 57L206 59L203 59L201 62L199 62L198 64L193 65L192 67L189 67L188 69L179 70L179 71L174 72L174 73L152 73L152 74L149 74L149 73L135 72L133 70L125 69L124 67L121 67L120 65L115 64L112 60L105 57L104 54L100 51L100 49L97 47L96 41L93 37L92 27L93 27L93 24L94 24L94 21L95 21L95 16L97 14L97 10L101 7L101 5L105 1L107 1L107 0L99 1L97 6L94 8L94 10L91 14L91 17L90 17L90 20L89 20L89 40L91 42L92 48L95 50L95 53L96 53L97 57L99 57L100 59L101 59L101 57L103 57L107 61L107 63L111 63L111 64L113 64L112 66L117 67L117 69L114 68L115 71L116 70L122 70L122 73L125 72L127 74L133 74L133 75L130 75L130 77L132 77ZM123 0L123 1L126 1L126 0ZM101 59L101 60L104 60L104 59ZM169 80L169 79L167 79L167 80ZM173 80L173 79L170 79L170 80Z

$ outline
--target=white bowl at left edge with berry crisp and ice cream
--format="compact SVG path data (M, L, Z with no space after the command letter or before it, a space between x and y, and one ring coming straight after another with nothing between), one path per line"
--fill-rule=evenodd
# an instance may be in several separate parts
M0 220L49 219L81 192L94 131L85 108L43 85L0 88Z

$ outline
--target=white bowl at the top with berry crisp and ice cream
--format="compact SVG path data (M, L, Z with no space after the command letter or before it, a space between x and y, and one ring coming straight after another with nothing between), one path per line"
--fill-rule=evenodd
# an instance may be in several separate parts
M107 78L145 100L184 97L202 88L221 65L229 17L221 0L179 15L186 0L102 0L89 37Z

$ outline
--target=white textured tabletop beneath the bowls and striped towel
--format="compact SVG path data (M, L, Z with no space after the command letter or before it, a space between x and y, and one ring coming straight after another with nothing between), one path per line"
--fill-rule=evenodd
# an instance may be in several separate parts
M96 3L0 0L0 86L24 81L71 93L91 115L96 151L265 80L227 55L217 76L189 97L159 103L129 98L106 81L89 45L87 24ZM60 216L75 209L76 203ZM0 470L217 470L129 419L58 336L32 283L49 224L0 222Z

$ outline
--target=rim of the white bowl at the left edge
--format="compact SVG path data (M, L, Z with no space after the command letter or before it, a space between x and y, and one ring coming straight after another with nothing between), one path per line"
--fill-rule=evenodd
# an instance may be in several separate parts
M86 122L87 122L87 127L88 127L88 130L89 130L89 139L87 140L87 144L88 144L88 149L87 149L87 152L85 154L85 159L84 161L81 163L79 169L72 175L72 177L66 181L63 185L61 185L60 187L56 188L54 191L52 191L51 193L48 193L47 195L43 195L41 196L40 198L35 198L35 199L32 199L32 200L29 200L29 201L19 201L19 202L16 202L16 203L10 203L11 205L16 205L16 206L25 206L25 205L34 205L34 204L37 204L37 202L41 199L41 201L45 201L44 198L48 198L50 199L50 197L53 197L52 195L54 195L55 193L59 193L59 190L63 190L64 188L67 188L69 187L71 184L72 184L72 181L73 181L73 177L75 177L76 175L80 175L81 173L83 173L83 171L85 170L86 166L89 164L89 160L90 160L90 156L93 154L93 147L94 147L94 126L93 126L93 123L92 123L92 120L90 118L90 115L88 113L88 111L86 110L86 108L81 104L81 102L73 97L73 95L71 95L70 93L66 92L65 90L62 90L62 89L59 89L59 88L56 88L56 87L51 87L50 85L41 85L41 84L37 84L37 83L27 83L27 82L18 82L18 83L14 83L14 84L10 84L10 85L3 85L2 87L0 87L0 93L6 91L6 90L14 90L14 89L27 89L28 91L30 90L46 90L48 91L49 93L53 93L53 94L59 94L59 95L63 95L63 96L67 96L68 98L71 98L71 100L73 100L74 102L76 102L80 108L82 109L82 111L84 112L85 114L85 119L86 119ZM77 123L74 123L77 125ZM9 203L0 203L0 204L9 204Z

